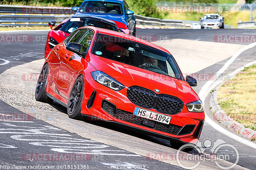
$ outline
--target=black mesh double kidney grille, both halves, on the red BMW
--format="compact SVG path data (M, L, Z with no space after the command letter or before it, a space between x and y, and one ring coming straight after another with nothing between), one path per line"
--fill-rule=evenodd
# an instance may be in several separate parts
M149 109L155 108L158 112L171 115L180 113L184 105L179 98L170 95L158 96L154 92L140 87L128 88L127 97L135 105Z

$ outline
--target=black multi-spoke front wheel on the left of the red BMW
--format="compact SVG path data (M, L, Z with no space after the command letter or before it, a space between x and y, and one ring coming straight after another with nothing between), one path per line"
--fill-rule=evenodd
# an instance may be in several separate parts
M84 95L84 77L79 76L70 92L68 98L68 117L77 120L86 120L86 116L81 114L81 107Z

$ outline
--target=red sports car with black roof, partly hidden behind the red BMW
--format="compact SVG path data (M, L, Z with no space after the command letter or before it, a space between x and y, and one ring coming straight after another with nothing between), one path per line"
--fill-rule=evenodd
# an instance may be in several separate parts
M49 26L54 26L56 21L50 21ZM83 27L83 26L95 26L99 28L105 28L117 32L127 32L127 30L124 29L118 29L116 26L116 23L114 21L111 21L109 19L104 19L100 17L95 16L88 16L88 15L76 15L70 19L64 19L60 25L56 26L54 29L49 31L47 35L47 41L45 45L45 51L44 51L44 58L47 57L47 55L50 53L52 48L56 46L57 44L61 43L65 38L70 35L73 31L75 31L77 28Z

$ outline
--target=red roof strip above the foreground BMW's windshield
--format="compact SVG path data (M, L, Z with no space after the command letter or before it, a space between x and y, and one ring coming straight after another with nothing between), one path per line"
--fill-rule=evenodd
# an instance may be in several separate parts
M148 45L150 47L154 47L156 49L159 49L161 51L164 51L168 54L170 54L169 51L167 51L166 49L160 47L160 46L157 46L151 42L148 42L146 40L142 40L140 38L137 38L137 37L134 37L132 35L129 35L129 34L124 34L124 33L119 33L119 32L116 32L116 31L112 31L112 30L107 30L107 29L103 29L103 28L97 28L97 27L94 27L94 26L84 26L84 27L81 27L81 28L91 28L93 29L96 33L102 33L102 34L107 34L107 35L112 35L112 36L116 36L116 37L120 37L120 38L124 38L124 39L128 39L128 40L131 40L131 41L135 41L135 42L139 42L139 43L142 43L142 44L145 44L145 45ZM79 28L80 29L80 28Z

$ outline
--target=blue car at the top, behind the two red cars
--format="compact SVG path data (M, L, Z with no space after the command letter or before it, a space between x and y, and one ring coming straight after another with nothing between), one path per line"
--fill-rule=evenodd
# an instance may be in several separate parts
M89 14L115 21L117 27L126 34L136 35L134 12L124 0L85 0L80 7L73 7L75 15Z

